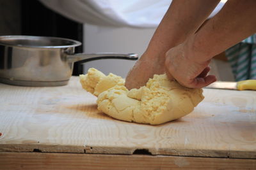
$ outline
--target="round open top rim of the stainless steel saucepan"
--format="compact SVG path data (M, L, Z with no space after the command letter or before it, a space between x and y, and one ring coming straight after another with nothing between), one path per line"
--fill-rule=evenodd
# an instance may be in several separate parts
M60 41L63 42L63 45L31 45L31 44L24 44L24 43L15 43L15 41ZM42 43L42 42L40 42ZM70 43L70 45L68 45ZM11 35L11 36L0 36L0 45L4 46L17 46L17 47L27 47L27 48L70 48L79 46L82 43L76 41L74 39L68 38L58 38L58 37L51 37L51 36L20 36L20 35Z

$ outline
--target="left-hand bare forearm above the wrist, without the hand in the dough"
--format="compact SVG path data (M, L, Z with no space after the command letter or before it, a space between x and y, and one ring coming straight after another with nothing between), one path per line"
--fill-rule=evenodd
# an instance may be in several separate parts
M173 0L157 27L148 48L147 57L163 57L167 50L182 43L203 24L219 0Z

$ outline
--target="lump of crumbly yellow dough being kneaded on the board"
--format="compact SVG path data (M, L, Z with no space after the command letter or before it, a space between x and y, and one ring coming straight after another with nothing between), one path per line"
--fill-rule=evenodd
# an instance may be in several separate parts
M122 77L90 68L86 75L80 75L80 82L83 89L98 97L99 111L127 122L163 124L188 115L204 99L202 89L183 87L168 80L166 74L155 74L147 85L128 90Z

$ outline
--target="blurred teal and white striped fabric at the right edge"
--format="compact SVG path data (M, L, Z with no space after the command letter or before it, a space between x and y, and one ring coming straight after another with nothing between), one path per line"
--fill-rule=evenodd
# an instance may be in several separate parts
M226 50L236 81L256 79L256 34Z

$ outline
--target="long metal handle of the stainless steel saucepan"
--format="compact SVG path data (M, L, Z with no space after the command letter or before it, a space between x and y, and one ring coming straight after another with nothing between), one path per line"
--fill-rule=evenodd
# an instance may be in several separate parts
M136 53L76 53L73 55L67 55L68 62L88 62L90 60L100 59L125 59L125 60L137 60L138 54Z

